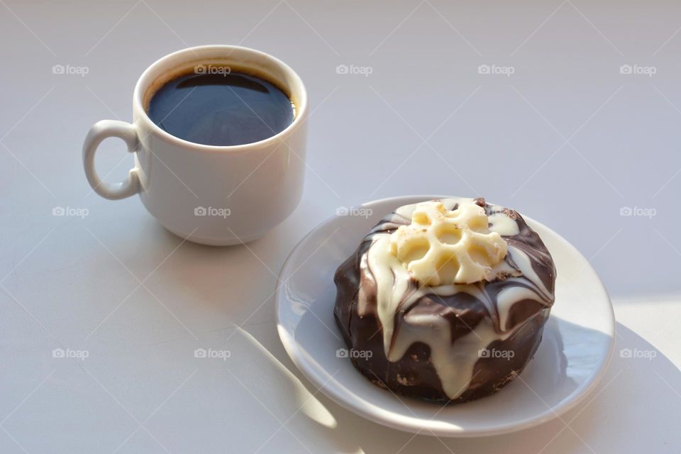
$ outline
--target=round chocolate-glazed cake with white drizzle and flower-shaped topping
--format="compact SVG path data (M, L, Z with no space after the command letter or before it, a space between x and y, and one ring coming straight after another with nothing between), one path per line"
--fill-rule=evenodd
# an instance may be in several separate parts
M516 211L452 198L382 218L334 281L334 316L362 375L397 394L465 402L533 357L555 266Z

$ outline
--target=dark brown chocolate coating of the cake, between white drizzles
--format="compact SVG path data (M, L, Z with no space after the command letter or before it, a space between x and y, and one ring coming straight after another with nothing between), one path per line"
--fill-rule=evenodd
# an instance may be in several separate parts
M487 301L468 292L454 292L440 295L425 289L416 280L409 282L409 290L402 295L397 311L394 313L394 332L390 345L401 330L413 329L413 321L422 316L436 316L444 319L450 329L452 346L467 336L480 323L491 323L499 339L487 345L488 350L512 352L511 358L482 357L475 361L472 377L465 385L465 390L450 398L443 389L441 377L433 365L431 347L423 342L409 345L406 353L395 361L387 358L380 316L377 309L377 283L375 276L365 259L373 238L377 233L392 233L400 225L406 225L411 220L399 214L389 214L372 229L360 243L355 253L351 255L336 271L336 305L334 317L341 329L348 348L370 351L370 355L351 356L353 365L377 386L390 389L401 394L419 399L438 402L465 402L487 396L504 387L513 380L533 357L543 333L543 326L548 319L550 307L553 305L555 285L555 265L550 253L541 238L531 230L516 211L489 205L484 199L476 199L485 209L487 216L502 214L517 224L518 233L504 236L509 245L524 253L531 264L531 270L541 279L541 284L548 290L541 298L521 298L509 307L505 326L502 327L499 317L499 292L509 286L533 286L526 277L496 279L492 282L482 281L471 284L487 296ZM455 209L456 204L450 209ZM491 217L490 217L491 219ZM514 263L511 255L504 259L516 270L521 267ZM360 288L362 291L360 292ZM421 296L415 301L409 301L409 295L416 289L421 289ZM492 304L489 304L489 302ZM360 311L360 306L363 309Z

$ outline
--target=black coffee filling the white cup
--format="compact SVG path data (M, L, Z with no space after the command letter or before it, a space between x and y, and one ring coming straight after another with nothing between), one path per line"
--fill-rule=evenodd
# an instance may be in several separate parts
M295 116L291 100L274 84L226 71L172 79L152 96L148 114L175 137L204 145L258 142L284 131Z

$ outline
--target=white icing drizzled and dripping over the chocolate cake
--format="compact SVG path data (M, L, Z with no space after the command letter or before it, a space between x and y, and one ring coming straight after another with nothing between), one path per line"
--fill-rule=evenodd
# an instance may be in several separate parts
M455 206L472 204L473 199L452 198L442 199L439 202L441 202L445 211L451 211ZM394 221L400 222L399 225L402 225L404 221L413 220L414 213L418 213L422 206L423 204L413 204L399 207L393 214ZM441 210L438 208L438 211ZM496 236L514 236L519 233L518 223L504 213L502 209L493 206L492 211L493 214L489 216L489 231L495 233ZM485 217L487 218L487 216ZM398 224L394 225L394 227L397 226ZM431 221L431 228L432 226L433 222ZM487 228L487 226L485 227ZM502 289L497 294L497 304L490 300L484 286L480 287L480 284L440 284L443 280L446 282L447 279L441 279L438 284L431 287L419 285L418 288L411 291L409 289L411 279L409 266L405 266L404 262L393 253L395 242L406 241L404 238L411 238L411 236L391 238L390 233L383 231L386 228L389 228L389 224L384 223L380 228L376 228L370 233L369 238L372 244L365 256L362 257L362 261L366 260L365 264L375 278L377 312L382 326L386 358L395 362L402 358L413 343L425 343L430 347L431 361L438 377L440 377L443 391L450 399L455 399L470 384L473 367L480 359L480 349L486 348L494 341L504 340L513 333L513 330L506 330L506 321L511 307L522 299L545 301L546 298L550 297L550 292L532 269L531 261L526 253L512 245L508 245L507 252L516 267L511 267L506 260L500 259L498 262L490 264L489 270L485 270L486 275L496 277L503 274L509 276L507 277L509 283L519 282L518 285ZM486 233L482 234L485 235ZM428 238L428 244L431 244L431 246L432 241L433 238ZM504 240L502 239L502 241ZM494 240L492 240L492 243L494 243ZM504 245L506 245L505 241ZM399 255L399 247L397 249ZM506 255L506 248L504 248L504 255ZM413 269L412 267L411 270ZM528 289L528 283L534 288ZM360 292L362 292L361 288ZM407 294L407 292L411 292L411 294ZM458 292L465 292L482 301L490 315L497 311L502 332L495 331L491 321L485 319L478 323L470 333L452 342L448 320L436 314L423 314L419 316L409 315L405 320L406 323L400 324L399 332L394 333L394 320L398 310L406 311L415 301L426 294L447 297ZM365 299L360 298L360 301L363 300ZM360 315L367 311L366 307L359 307L358 309Z

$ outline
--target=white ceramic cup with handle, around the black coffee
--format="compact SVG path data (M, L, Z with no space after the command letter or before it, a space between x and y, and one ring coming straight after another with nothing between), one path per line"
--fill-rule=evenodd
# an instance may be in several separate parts
M156 126L146 106L170 79L210 65L274 82L295 105L293 123L265 140L214 146L188 142ZM179 50L148 67L135 86L133 123L103 120L83 145L85 175L106 199L140 194L146 209L169 231L208 245L260 238L294 211L303 190L307 92L298 74L272 55L231 45ZM99 143L121 138L135 155L128 179L102 182L94 168Z

